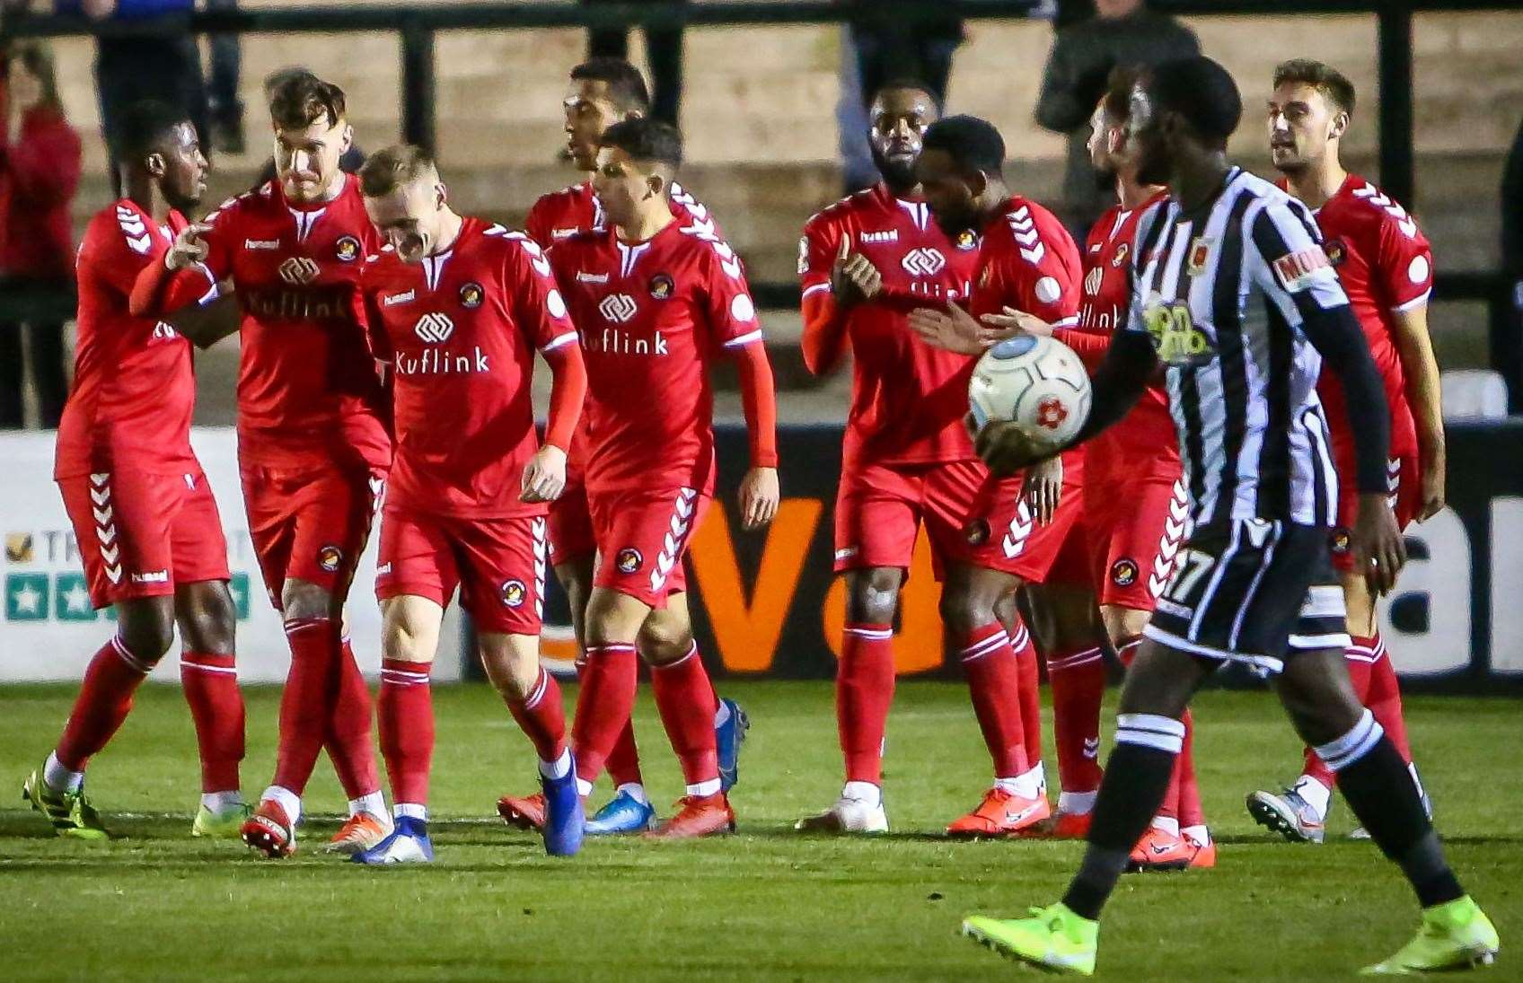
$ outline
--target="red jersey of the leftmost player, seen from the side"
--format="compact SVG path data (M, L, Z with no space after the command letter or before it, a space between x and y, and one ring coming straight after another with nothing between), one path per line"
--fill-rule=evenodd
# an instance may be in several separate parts
M198 470L190 452L190 342L158 318L128 312L137 274L163 262L184 225L184 216L171 212L160 227L125 198L90 219L79 245L75 383L58 425L53 476Z

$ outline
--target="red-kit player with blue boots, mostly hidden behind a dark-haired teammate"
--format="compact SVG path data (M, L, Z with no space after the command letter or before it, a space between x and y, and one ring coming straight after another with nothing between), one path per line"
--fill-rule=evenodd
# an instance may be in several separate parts
M597 170L597 140L603 131L624 119L640 119L650 110L650 96L640 70L623 58L592 58L571 68L570 88L565 97L567 152L577 170L591 175ZM714 216L688 192L673 181L669 195L672 215L684 227L719 234ZM577 233L603 228L603 205L592 193L588 178L559 192L550 192L535 202L525 219L525 231L544 248ZM567 457L567 487L560 498L550 504L550 561L556 580L567 593L571 609L571 628L577 651L586 651L585 619L586 598L592 590L592 558L597 546L592 542L592 516L588 511L586 482L586 420L571 438ZM577 670L585 659L577 659ZM745 711L734 700L720 698L714 714L714 740L719 747L719 778L728 791L739 778L740 746L746 736ZM640 832L649 829L656 813L646 794L640 773L640 753L635 747L635 729L631 723L618 735L614 750L605 762L614 781L614 797L586 822L588 835L615 832ZM515 826L538 828L544 823L544 800L533 796L504 796L498 800L498 813Z

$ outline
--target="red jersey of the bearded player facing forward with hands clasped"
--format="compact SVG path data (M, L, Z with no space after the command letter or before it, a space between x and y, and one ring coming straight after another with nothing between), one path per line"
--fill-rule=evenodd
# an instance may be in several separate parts
M804 225L798 243L803 298L830 291L842 237L883 277L882 294L845 313L851 342L851 411L842 461L923 464L975 460L963 417L972 359L920 341L908 313L926 301L969 295L978 237L956 242L918 199L896 198L885 184L857 192ZM940 306L940 304L938 304ZM841 317L836 313L836 317Z

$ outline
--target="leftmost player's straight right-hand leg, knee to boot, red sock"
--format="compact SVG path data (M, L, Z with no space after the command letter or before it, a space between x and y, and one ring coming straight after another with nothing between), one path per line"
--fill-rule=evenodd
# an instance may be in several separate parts
M250 814L239 787L245 715L235 665L236 619L225 580L177 586L180 686L201 753L201 805L190 826L196 837L236 838Z

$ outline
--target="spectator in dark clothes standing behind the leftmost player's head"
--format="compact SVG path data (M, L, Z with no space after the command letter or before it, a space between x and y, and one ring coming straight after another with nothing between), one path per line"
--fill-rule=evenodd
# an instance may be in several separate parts
M190 14L195 0L55 0L55 8L59 14L84 14L93 20L142 20ZM116 120L126 107L157 99L186 111L210 157L201 49L189 32L96 38L96 91L107 146L114 143ZM120 169L113 161L111 190L117 195L122 193L120 180Z

